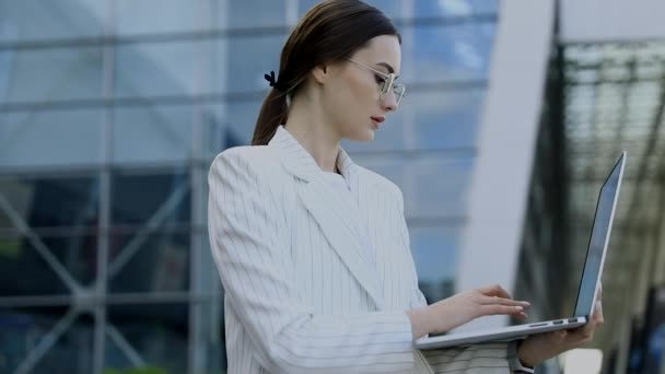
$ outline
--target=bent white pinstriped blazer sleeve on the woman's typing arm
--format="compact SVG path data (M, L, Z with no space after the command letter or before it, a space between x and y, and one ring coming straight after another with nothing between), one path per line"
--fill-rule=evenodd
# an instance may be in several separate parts
M299 297L287 222L261 164L228 150L209 173L209 231L225 296L276 373L402 372L413 366L402 311L320 316ZM262 177L261 177L262 176ZM280 233L282 235L280 236Z

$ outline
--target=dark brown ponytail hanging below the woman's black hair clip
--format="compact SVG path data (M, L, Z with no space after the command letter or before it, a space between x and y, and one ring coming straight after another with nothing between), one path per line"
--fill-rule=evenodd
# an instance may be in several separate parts
M261 110L256 120L252 145L267 145L277 132L277 128L287 121L289 106L287 105L287 93L272 87L264 100Z

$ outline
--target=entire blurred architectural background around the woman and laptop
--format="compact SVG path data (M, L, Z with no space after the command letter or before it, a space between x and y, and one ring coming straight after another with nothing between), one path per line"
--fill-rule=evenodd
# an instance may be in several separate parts
M665 373L665 3L369 2L408 96L345 148L402 189L428 301L498 282L572 314L627 150L606 324L539 373ZM314 3L0 0L0 373L225 372L207 173Z

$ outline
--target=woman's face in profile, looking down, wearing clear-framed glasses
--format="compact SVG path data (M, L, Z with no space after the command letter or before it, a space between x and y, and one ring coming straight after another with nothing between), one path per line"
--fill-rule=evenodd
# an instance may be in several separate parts
M397 98L392 91L382 97L384 78L368 67L399 75L399 40L392 35L376 36L350 59L355 62L342 61L330 67L323 90L324 112L342 138L370 141L381 130L388 112L397 109Z

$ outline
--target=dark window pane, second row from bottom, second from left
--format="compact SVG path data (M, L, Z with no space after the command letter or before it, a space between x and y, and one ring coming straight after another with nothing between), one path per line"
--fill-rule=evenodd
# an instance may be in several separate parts
M109 238L108 292L186 292L189 289L189 232L148 229Z

